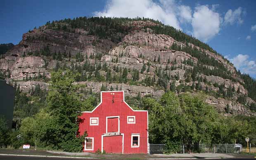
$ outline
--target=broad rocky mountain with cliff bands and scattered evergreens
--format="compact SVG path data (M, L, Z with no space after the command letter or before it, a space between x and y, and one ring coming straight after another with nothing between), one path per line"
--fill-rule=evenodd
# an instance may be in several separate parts
M85 93L130 97L205 93L223 114L256 115L256 81L196 38L152 19L79 17L28 31L0 59L0 74L23 92L47 88L51 71L80 73ZM82 85L83 84L83 85Z

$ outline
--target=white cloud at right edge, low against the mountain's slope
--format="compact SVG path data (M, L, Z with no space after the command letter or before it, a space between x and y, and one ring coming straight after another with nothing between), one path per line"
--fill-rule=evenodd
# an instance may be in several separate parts
M247 54L238 54L230 61L242 73L256 74L256 61L251 60Z

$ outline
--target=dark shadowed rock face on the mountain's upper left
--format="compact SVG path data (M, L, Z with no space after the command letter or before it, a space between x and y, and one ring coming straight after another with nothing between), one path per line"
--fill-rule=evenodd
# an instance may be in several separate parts
M80 30L79 30L80 31ZM61 52L76 55L78 52L90 54L92 52L92 44L96 43L96 51L106 53L115 44L110 40L99 40L97 36L86 35L87 32L68 33L62 31L54 31L46 29L34 29L31 32L24 33L21 42L15 45L7 54L13 56L22 56L24 53L36 52L49 47L50 52ZM100 45L99 45L100 44ZM93 52L96 52L93 51Z

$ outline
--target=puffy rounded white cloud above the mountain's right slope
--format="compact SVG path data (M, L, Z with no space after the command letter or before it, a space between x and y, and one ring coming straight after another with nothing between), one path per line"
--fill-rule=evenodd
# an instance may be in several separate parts
M220 14L206 5L197 6L192 17L193 35L204 41L213 38L220 31Z

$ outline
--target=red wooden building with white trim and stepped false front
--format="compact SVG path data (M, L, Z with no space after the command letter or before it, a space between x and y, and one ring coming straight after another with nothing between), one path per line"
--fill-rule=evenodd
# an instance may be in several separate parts
M79 133L87 131L84 152L148 153L148 111L135 111L123 91L101 92L101 102L82 112Z

